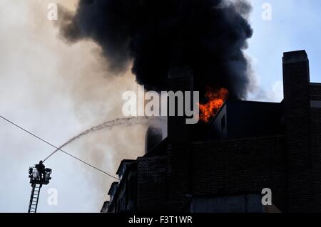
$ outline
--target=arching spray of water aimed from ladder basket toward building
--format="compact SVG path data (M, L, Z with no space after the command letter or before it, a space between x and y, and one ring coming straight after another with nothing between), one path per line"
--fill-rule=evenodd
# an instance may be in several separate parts
M58 152L63 147L66 147L68 144L74 142L75 140L80 139L81 137L86 136L87 134L90 134L92 132L96 132L99 130L111 130L113 127L116 126L133 126L133 125L153 125L156 122L161 122L163 119L161 117L126 117L126 118L117 118L115 120L110 120L107 122L103 122L99 125L93 126L90 129L83 131L76 135L75 137L72 137L67 142L62 144L58 149L56 149L54 152L52 152L46 159L44 159L44 162L49 159L53 154Z

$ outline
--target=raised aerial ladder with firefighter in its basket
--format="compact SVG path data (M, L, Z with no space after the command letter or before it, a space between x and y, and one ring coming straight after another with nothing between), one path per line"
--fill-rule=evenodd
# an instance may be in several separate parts
M51 169L45 168L42 161L34 167L29 167L29 178L31 184L31 196L28 213L36 213L38 208L40 189L43 185L49 184L51 180Z

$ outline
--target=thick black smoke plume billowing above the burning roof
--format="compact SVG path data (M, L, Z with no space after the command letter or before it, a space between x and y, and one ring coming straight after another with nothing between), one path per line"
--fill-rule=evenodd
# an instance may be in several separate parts
M171 66L189 65L195 90L228 88L243 99L250 75L243 55L252 29L247 1L80 0L76 14L61 26L71 42L91 38L122 73L133 60L136 80L151 90L167 90Z

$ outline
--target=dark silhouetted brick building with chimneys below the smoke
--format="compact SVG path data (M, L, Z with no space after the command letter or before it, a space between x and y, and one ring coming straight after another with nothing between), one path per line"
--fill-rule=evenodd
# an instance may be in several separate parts
M206 125L168 117L166 139L121 162L102 212L321 212L321 84L305 51L284 53L283 80L280 103L228 101ZM186 68L168 82L193 90Z

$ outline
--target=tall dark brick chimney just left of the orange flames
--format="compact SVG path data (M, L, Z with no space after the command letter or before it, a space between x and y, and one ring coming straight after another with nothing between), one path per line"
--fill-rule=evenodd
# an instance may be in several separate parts
M170 68L168 90L193 93L193 71L188 66ZM186 118L168 115L168 211L182 208L190 192L190 125Z

